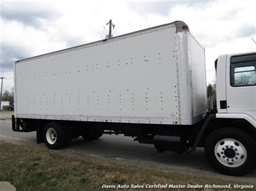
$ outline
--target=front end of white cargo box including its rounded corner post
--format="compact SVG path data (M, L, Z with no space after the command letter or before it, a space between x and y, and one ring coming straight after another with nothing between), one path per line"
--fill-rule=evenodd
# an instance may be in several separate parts
M180 123L195 124L207 112L204 48L190 32L177 33Z

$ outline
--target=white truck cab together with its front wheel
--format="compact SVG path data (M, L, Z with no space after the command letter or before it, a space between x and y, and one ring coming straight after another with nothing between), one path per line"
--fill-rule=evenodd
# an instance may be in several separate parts
M206 136L208 162L228 175L255 167L256 52L220 55L216 60L217 113Z

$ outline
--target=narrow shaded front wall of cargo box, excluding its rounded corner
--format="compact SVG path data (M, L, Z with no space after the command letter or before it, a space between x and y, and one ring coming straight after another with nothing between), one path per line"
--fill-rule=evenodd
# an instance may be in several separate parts
M204 48L190 35L191 76L193 86L193 123L207 112L206 58Z

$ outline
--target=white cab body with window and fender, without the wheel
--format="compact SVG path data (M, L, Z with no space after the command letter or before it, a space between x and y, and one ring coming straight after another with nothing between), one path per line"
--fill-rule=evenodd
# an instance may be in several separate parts
M220 55L216 79L216 118L240 118L256 127L256 53Z

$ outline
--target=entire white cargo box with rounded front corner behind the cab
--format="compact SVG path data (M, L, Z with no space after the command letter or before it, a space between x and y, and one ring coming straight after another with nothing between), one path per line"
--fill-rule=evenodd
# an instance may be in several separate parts
M207 110L204 48L184 22L14 62L15 117L195 124Z

